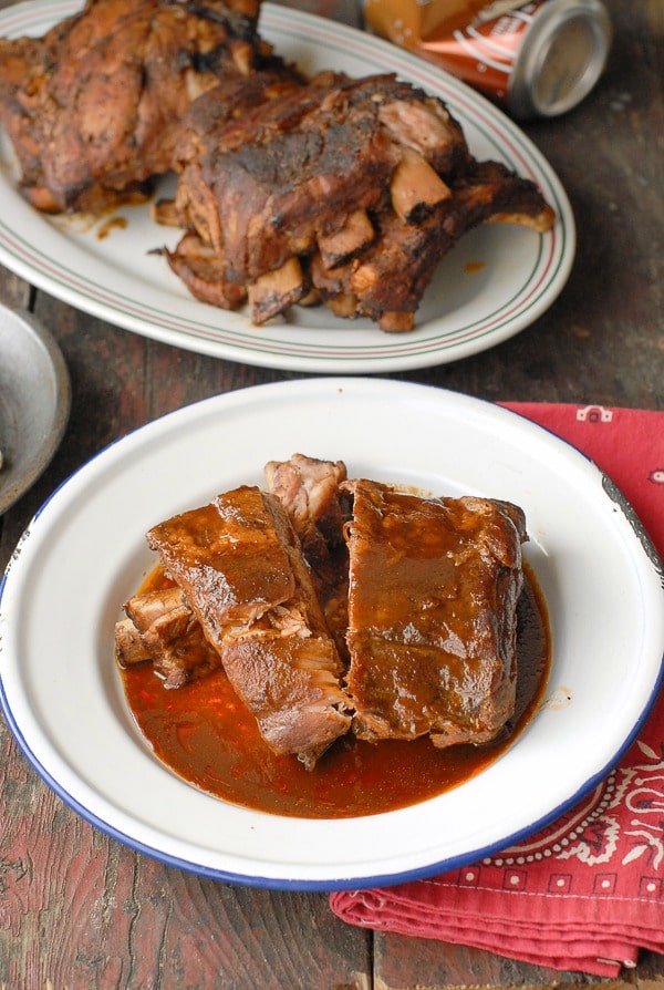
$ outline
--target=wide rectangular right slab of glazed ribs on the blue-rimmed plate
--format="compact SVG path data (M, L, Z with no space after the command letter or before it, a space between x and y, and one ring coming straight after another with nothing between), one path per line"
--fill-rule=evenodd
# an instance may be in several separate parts
M485 743L513 712L522 512L349 483L347 690L366 740Z

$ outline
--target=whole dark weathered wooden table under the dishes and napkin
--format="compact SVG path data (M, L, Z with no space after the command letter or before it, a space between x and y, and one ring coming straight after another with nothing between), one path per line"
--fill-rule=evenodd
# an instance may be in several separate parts
M608 7L615 41L601 83L567 116L525 128L575 212L579 247L569 283L516 338L457 363L394 378L489 400L664 409L664 4L608 0ZM111 441L195 400L303 377L144 339L2 269L0 299L31 309L51 328L73 388L58 455L0 519L0 567L42 501ZM487 952L355 929L331 914L324 894L229 886L165 867L64 806L4 724L0 747L2 990L594 982ZM627 984L664 987L664 958L644 953L635 972L611 986Z

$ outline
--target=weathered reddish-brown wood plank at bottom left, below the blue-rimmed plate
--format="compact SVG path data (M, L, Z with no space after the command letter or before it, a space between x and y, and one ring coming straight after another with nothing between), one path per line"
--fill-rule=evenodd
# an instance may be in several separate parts
M370 939L324 895L234 887L135 854L48 791L4 728L0 744L0 986L362 987Z

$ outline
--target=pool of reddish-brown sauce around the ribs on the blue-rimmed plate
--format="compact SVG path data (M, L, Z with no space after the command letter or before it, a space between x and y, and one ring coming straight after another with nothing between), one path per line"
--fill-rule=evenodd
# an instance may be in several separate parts
M222 671L177 690L166 690L149 663L121 669L121 676L141 732L188 783L271 814L345 818L394 811L456 787L492 763L528 723L542 698L551 652L546 606L528 568L517 649L517 710L495 742L437 750L426 736L369 743L349 734L313 771L270 751Z

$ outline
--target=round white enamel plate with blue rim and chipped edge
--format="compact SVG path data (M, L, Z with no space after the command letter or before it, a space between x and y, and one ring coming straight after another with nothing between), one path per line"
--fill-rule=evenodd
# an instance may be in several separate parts
M552 632L547 700L489 767L403 811L293 819L227 804L167 770L127 711L113 629L154 564L145 532L238 484L261 484L267 461L294 452L343 458L351 476L507 498L527 514L526 554ZM591 462L490 403L380 379L240 390L127 435L42 507L0 596L2 707L46 783L135 849L277 888L426 876L550 822L634 739L663 649L661 565Z

